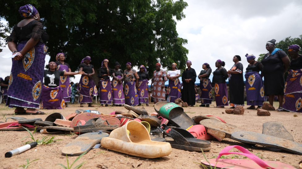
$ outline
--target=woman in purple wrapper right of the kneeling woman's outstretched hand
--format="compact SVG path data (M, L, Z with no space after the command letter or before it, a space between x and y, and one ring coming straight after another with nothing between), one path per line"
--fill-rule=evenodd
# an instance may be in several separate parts
M95 74L94 66L90 64L90 56L86 56L82 59L79 69L84 71L82 74L77 91L80 94L80 107L84 107L83 103L88 103L88 107L94 107L92 105L93 95L97 95L97 86L93 82L92 76Z

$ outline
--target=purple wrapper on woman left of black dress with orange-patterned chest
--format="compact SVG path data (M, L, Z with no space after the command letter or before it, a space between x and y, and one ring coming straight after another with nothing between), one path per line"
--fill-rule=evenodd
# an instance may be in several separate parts
M215 83L214 89L216 106L228 106L226 83Z

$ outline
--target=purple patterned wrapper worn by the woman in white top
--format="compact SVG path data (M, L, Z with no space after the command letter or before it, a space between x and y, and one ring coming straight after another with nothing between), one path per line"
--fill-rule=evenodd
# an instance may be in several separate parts
M174 82L169 79L169 87L168 87L169 96L167 97L167 101L175 103L175 99L180 98L181 96L180 89L181 87L180 87L179 78L176 78Z

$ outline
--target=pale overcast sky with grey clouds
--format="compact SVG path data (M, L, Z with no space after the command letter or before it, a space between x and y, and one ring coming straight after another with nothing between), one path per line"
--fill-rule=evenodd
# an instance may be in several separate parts
M218 59L226 62L225 68L233 66L232 58L239 55L244 70L248 66L245 54L267 53L265 44L271 39L280 41L286 37L296 38L302 34L301 0L184 0L188 7L186 18L177 22L179 37L188 40L188 59L196 74L201 65L209 63L214 71ZM0 56L7 54L6 47ZM50 57L46 56L48 63ZM11 59L0 58L0 77L10 74ZM71 81L78 82L80 75Z

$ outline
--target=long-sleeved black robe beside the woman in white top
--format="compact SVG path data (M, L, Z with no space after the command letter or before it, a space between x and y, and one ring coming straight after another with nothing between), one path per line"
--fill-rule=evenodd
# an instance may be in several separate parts
M185 79L192 79L190 82L184 81ZM183 71L181 76L183 81L183 90L181 91L181 99L183 102L187 102L188 105L195 105L195 81L196 81L196 72L193 68L186 69Z

